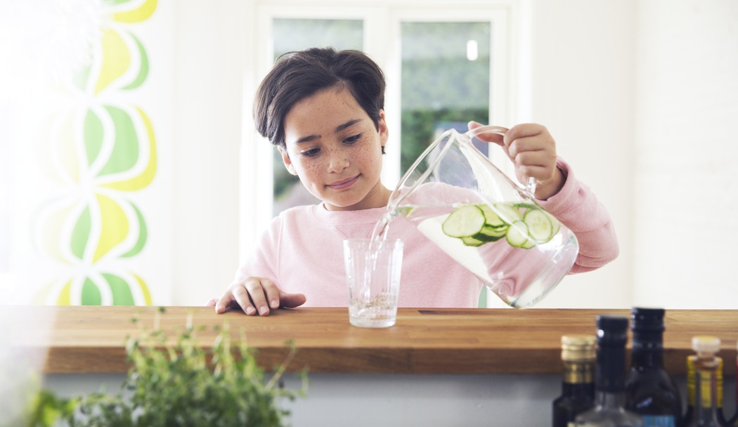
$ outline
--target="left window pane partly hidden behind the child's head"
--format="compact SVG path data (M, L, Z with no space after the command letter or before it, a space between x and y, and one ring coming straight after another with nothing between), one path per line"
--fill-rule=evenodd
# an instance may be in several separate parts
M275 19L274 58L308 47L333 46L336 49L362 49L364 23L356 19ZM284 209L318 202L296 176L290 175L282 157L274 154L274 204L272 212L278 215Z

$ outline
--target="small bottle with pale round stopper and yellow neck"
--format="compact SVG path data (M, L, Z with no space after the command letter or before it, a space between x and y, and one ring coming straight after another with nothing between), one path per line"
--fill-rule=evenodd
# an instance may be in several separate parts
M714 336L694 336L690 355L692 367L687 364L687 393L692 410L687 427L725 427L722 414L723 358L715 355L720 350L720 339ZM694 373L689 372L693 369Z

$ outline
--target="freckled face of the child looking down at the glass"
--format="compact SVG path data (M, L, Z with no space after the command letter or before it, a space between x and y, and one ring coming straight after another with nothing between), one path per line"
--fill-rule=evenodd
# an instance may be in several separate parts
M284 120L287 170L330 210L387 205L380 181L387 124L379 131L348 89L328 88L295 104Z

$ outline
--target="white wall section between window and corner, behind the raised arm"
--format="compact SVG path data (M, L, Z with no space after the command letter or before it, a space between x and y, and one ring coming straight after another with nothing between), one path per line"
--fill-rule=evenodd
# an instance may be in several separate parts
M621 250L604 268L565 277L537 307L629 307L635 1L534 0L529 10L530 108L520 120L548 128L607 206Z

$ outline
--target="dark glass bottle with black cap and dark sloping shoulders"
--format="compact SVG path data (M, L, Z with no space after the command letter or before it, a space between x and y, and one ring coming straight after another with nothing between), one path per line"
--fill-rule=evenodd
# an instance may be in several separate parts
M663 369L663 313L663 308L638 307L630 313L633 341L625 407L641 415L646 427L682 425L679 390Z

